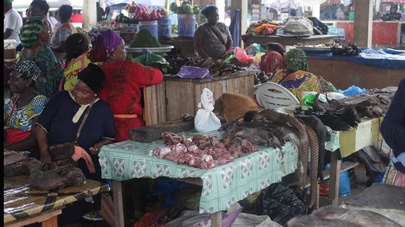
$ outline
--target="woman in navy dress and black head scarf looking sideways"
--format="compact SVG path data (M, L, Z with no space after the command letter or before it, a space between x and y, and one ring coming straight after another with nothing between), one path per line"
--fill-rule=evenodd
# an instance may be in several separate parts
M86 179L102 182L98 152L100 147L113 143L115 139L113 113L109 106L96 95L104 85L105 74L102 69L97 65L89 64L79 73L75 89L61 91L49 100L36 123L41 162L51 161L49 147L75 141L79 125L87 109L91 108L77 143L89 153L95 173L90 173L82 158L78 160L78 167L83 171ZM94 203L80 200L66 205L62 214L58 216L58 221L63 224L75 223L87 212L96 210L109 225L115 226L111 200L104 194L93 196L93 200Z

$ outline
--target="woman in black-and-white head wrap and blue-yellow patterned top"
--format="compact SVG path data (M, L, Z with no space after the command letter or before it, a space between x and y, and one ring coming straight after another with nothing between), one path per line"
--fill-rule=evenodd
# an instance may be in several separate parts
M40 69L33 61L18 61L11 70L8 83L11 92L18 96L4 105L4 126L7 128L4 149L39 158L39 154L30 151L36 147L36 131L32 124L35 125L48 103L47 97L35 92Z

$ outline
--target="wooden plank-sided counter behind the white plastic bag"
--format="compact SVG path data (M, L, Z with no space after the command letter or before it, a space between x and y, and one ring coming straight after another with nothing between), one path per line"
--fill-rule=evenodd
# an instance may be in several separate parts
M215 76L213 79L164 76L162 83L143 88L145 123L151 125L169 122L180 118L184 113L195 115L204 88L213 92L214 99L218 99L224 92L239 93L253 98L254 74L258 72L258 70L241 71Z

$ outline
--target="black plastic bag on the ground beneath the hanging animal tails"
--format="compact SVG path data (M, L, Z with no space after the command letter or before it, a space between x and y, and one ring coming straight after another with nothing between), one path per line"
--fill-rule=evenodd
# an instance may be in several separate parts
M286 227L294 216L307 214L308 206L303 195L297 196L283 183L273 183L260 193L254 212L268 215L272 221Z

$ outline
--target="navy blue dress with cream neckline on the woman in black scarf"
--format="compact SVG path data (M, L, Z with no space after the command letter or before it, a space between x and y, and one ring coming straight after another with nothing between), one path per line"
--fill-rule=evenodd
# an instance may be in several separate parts
M77 130L88 108L85 107L79 120L74 123L73 117L80 107L81 105L74 101L72 91L58 92L49 100L36 123L37 127L42 127L48 133L48 147L75 141ZM86 179L102 182L98 156L90 153L90 147L94 147L103 138L115 139L114 115L107 103L97 100L90 110L78 141L79 146L89 153L96 169L95 173L90 173L85 161L82 158L79 159L78 167L83 171ZM75 223L87 212L100 210L101 195L93 196L93 200L94 203L80 200L66 205L62 214L58 215L58 223Z

